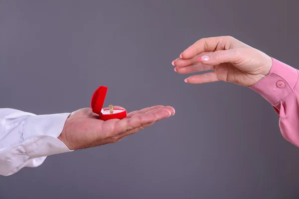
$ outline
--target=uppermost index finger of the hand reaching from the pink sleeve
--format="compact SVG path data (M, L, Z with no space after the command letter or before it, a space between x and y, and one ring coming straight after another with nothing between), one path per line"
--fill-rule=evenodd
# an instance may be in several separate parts
M226 50L237 40L230 36L202 38L188 47L181 54L182 58L190 59L204 51Z

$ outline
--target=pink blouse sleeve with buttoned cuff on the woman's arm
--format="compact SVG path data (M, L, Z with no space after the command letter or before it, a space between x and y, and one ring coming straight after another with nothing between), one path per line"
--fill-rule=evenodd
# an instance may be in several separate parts
M269 75L250 88L272 104L280 115L279 127L282 135L299 147L299 71L272 59Z

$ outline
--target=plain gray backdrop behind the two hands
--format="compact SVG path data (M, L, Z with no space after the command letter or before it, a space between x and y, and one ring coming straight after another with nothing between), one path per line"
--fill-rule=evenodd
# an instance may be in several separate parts
M198 39L231 35L297 68L298 4L0 0L1 107L71 112L105 85L106 105L176 109L119 143L0 177L0 199L298 198L299 149L271 104L230 83L186 84L171 66Z

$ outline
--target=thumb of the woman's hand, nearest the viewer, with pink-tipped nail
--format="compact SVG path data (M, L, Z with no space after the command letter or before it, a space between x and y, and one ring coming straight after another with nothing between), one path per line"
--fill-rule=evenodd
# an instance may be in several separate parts
M218 65L222 63L236 63L242 59L237 49L218 50L210 54L198 57L199 62L206 65Z

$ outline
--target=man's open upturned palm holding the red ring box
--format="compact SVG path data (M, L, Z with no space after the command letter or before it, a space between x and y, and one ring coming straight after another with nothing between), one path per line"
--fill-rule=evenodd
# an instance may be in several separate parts
M114 106L114 108L122 108ZM58 137L70 150L90 148L120 141L154 122L174 114L170 106L153 106L130 112L124 119L103 121L91 108L74 111Z

